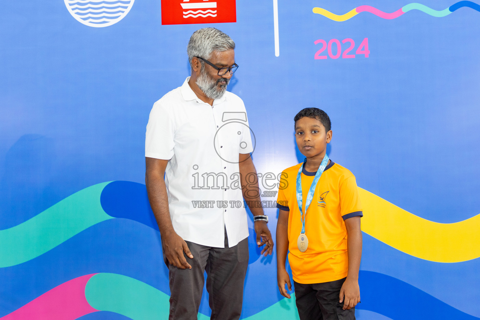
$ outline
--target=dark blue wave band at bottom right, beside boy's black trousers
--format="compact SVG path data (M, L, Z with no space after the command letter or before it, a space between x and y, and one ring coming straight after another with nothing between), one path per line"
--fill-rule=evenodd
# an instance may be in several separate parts
M424 291L394 277L360 271L361 303L358 309L380 313L393 320L478 320Z

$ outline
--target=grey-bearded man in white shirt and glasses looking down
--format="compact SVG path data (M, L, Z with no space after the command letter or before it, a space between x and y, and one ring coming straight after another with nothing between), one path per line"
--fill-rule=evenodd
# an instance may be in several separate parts
M268 217L252 205L260 194L245 106L226 91L238 67L234 49L220 30L195 31L187 47L192 75L154 104L147 124L145 182L169 270L169 319L197 319L204 271L211 319L240 318L248 266L243 198L257 245L272 254Z

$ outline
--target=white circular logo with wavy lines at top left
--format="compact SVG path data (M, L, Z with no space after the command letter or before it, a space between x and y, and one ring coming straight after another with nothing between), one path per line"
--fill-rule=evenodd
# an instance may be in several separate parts
M123 19L135 0L64 0L78 22L91 27L108 27Z

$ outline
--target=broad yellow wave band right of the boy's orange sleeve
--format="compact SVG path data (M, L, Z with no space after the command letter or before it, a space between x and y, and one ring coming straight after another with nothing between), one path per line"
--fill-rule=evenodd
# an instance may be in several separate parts
M443 224L429 221L359 188L363 232L414 257L461 262L480 257L480 214Z

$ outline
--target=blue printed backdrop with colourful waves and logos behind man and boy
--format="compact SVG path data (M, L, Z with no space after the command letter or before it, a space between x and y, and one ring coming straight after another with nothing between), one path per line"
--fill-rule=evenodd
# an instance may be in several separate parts
M207 26L236 42L228 90L247 109L270 230L279 174L303 161L293 117L324 109L328 156L364 207L357 319L480 319L479 4L3 1L0 319L167 319L145 127ZM249 227L241 319L298 319Z

